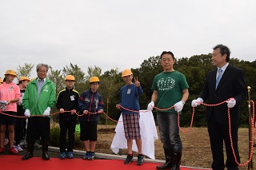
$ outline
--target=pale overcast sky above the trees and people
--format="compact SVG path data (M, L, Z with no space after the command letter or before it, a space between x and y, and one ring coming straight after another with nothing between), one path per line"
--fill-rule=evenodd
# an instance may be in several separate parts
M2 78L24 63L136 69L164 50L179 59L217 44L254 61L255 40L254 0L0 0Z

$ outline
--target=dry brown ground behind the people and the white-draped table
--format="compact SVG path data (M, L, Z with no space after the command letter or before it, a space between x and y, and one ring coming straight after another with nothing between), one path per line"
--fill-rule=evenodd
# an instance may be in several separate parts
M114 154L110 149L110 145L114 138L115 125L99 125L98 141L96 152ZM187 130L188 128L182 128ZM249 157L248 128L239 128L238 145L241 157L241 164L246 163ZM182 166L210 168L212 157L210 152L210 141L207 128L191 128L189 132L180 132L183 144ZM159 136L159 134L158 134ZM76 149L84 150L83 145L76 146ZM164 153L161 141L154 142L155 158L164 160ZM225 149L225 148L224 148ZM254 167L256 167L256 153L254 148ZM122 154L126 154L126 149L122 150ZM248 169L248 165L240 169Z

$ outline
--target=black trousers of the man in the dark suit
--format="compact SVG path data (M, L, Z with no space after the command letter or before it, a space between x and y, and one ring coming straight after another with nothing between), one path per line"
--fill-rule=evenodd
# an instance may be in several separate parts
M213 170L223 170L224 154L223 154L223 141L226 147L226 168L229 170L237 170L238 164L235 162L234 154L231 148L229 125L219 124L214 116L207 122L208 132L210 136L210 147L213 154ZM240 157L238 153L238 125L231 125L231 136L234 147L234 153L240 163Z

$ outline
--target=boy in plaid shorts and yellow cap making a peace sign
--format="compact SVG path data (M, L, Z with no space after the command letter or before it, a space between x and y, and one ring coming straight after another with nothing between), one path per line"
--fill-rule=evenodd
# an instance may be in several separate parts
M117 109L122 110L122 121L127 140L128 153L124 164L130 164L134 159L132 152L133 140L136 141L138 147L138 160L137 164L142 165L144 163L142 154L142 139L139 127L139 102L138 96L143 93L138 77L133 80L133 73L130 69L124 69L122 71L122 80L126 85L120 89L120 103L116 105ZM122 106L122 107L121 107Z

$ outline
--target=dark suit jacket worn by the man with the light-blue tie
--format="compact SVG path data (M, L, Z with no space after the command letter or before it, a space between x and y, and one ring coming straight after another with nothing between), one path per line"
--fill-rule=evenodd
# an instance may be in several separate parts
M230 118L231 124L238 125L240 104L246 99L244 71L229 64L219 81L217 89L215 89L216 74L217 68L207 73L205 87L200 97L204 102L207 101L207 104L218 104L234 97L236 105L230 109ZM214 114L213 116L220 124L228 124L227 110L226 103L218 106L207 106L206 121L209 121L212 114Z

